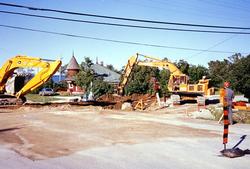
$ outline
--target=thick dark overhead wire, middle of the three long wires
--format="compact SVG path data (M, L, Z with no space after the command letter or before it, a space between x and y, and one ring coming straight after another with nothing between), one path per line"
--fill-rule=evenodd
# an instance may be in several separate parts
M98 24L98 25L118 26L118 27L129 27L129 28L141 28L141 29L154 29L154 30L164 30L164 31L217 33L217 34L241 34L241 35L249 35L250 34L250 32L213 31L213 30L200 30L200 29L179 29L179 28L167 28L167 27L153 27L153 26L117 24L117 23L110 23L110 22L97 22L97 21L87 21L87 20L80 20L80 19L69 19L69 18L53 17L53 16L46 16L46 15L35 15L35 14L27 14L27 13L20 13L20 12L2 11L2 10L0 10L0 13L22 15L22 16L29 16L29 17L37 17L37 18L46 18L46 19L53 19L53 20L81 22L81 23L88 23L88 24Z

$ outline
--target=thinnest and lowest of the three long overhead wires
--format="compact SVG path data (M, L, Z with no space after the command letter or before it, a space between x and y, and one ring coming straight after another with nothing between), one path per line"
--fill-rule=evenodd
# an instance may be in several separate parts
M32 28L25 28L25 27L19 27L19 26L3 25L3 24L0 24L0 27L10 28L10 29L18 29L18 30L25 30L25 31L32 31L32 32L47 33L47 34L53 34L53 35L68 36L68 37L74 37L74 38L91 39L91 40L98 40L98 41L105 41L105 42L112 42L112 43L147 46L147 47L178 49L178 50L187 50L187 51L206 51L206 52L213 52L213 53L229 53L229 54L237 53L237 52L233 52L233 51L217 51L217 50L209 50L209 51L207 51L207 50L195 49L195 48L175 47L175 46L148 44L148 43L140 43L140 42L132 42L132 41L120 41L120 40L104 39L104 38L76 35L76 34L69 34L69 33L46 31L46 30L41 30L41 29L32 29ZM243 53L242 52L242 54L248 54L248 53Z

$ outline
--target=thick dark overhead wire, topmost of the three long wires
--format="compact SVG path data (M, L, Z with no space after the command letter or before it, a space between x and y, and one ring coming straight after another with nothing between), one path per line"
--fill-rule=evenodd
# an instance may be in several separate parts
M50 8L37 8L37 7L17 5L17 4L11 4L11 3L3 3L3 2L0 2L0 5L16 7L16 8L25 8L29 10L48 11L48 12L56 12L56 13L71 14L71 15L89 16L89 17L96 17L96 18L115 19L115 20L133 21L133 22L143 22L143 23L153 23L153 24L167 24L167 25L205 27L205 28L217 28L217 29L241 29L241 30L250 29L249 27L239 27L239 26L204 25L204 24L165 22L165 21L144 20L144 19L135 19L135 18L124 18L124 17L115 17L115 16L107 16L107 15L96 15L96 14L64 11L64 10L57 10L57 9L50 9Z

